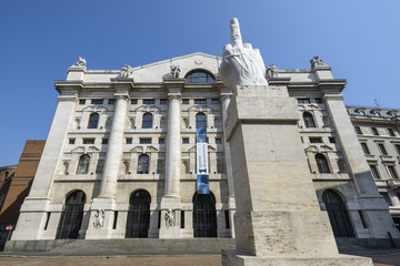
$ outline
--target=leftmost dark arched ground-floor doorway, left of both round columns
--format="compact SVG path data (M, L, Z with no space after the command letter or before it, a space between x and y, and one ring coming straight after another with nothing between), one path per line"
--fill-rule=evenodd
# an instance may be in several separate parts
M76 191L67 197L56 239L78 238L83 217L84 203L86 194L82 191Z

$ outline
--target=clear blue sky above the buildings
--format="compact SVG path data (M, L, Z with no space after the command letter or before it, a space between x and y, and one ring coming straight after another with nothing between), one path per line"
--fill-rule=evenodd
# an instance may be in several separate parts
M400 109L400 1L20 1L0 3L0 166L26 140L44 140L54 80L79 55L88 69L120 69L192 52L221 55L237 17L266 64L310 68L319 55L347 79L344 102Z

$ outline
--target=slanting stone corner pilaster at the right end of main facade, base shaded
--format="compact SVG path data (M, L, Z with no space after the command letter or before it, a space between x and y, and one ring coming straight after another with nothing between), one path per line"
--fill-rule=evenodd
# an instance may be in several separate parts
M340 88L322 88L323 101L333 123L338 142L353 177L358 193L360 207L367 218L368 229L372 238L387 238L388 232L394 238L399 238L399 231L393 226L388 205L379 194L376 183L370 173L360 142L357 139L354 127L347 113Z

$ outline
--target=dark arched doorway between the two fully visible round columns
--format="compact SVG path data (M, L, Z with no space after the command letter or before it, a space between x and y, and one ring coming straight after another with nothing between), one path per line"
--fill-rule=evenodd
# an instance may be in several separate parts
M140 190L133 193L129 200L127 219L127 238L147 238L150 227L150 193Z

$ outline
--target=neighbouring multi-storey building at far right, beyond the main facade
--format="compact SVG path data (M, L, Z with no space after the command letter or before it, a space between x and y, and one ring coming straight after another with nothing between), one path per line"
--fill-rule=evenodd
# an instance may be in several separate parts
M400 223L400 119L398 110L348 106L379 193Z

